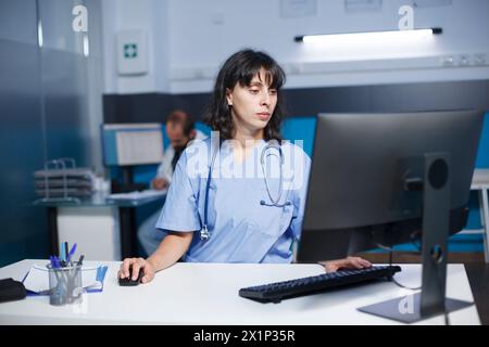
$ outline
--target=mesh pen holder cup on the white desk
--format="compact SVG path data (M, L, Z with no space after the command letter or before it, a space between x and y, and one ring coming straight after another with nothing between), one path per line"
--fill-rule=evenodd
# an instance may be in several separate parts
M49 304L54 306L82 304L83 283L82 266L74 265L66 268L53 268L49 270Z

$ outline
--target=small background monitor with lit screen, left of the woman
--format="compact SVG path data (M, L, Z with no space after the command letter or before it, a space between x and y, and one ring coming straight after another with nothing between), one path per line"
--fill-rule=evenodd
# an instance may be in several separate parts
M104 165L122 168L123 187L118 191L139 190L133 183L134 166L160 164L163 160L161 124L104 124L102 144Z

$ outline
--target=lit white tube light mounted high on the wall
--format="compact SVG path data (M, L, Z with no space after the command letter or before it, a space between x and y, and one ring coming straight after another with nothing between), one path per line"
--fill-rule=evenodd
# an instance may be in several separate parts
M343 40L377 40L381 42L388 39L403 38L424 38L432 35L440 35L443 33L442 28L429 28L429 29L414 29L414 30L392 30L392 31L371 31L371 33L351 33L351 34L329 34L329 35L305 35L297 36L296 42L304 43L330 43L340 42Z

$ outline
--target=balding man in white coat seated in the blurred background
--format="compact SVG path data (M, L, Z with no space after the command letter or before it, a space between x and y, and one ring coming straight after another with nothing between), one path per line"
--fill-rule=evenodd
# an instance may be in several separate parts
M187 144L195 139L203 140L206 138L201 131L195 129L195 125L191 115L181 110L172 112L166 118L166 136L170 139L170 146L164 153L156 177L151 181L152 189L159 191L167 189L172 182L175 165ZM138 229L139 243L148 255L156 250L162 239L166 235L154 227L160 213L160 210L155 211Z

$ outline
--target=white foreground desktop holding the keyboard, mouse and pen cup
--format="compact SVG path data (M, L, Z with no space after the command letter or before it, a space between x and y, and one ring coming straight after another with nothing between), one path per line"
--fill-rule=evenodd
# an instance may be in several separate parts
M0 278L21 279L34 262L0 269ZM42 264L42 262L41 262ZM87 261L87 265L90 265ZM103 293L86 294L80 306L54 307L48 297L27 297L0 305L0 324L398 324L356 310L358 307L412 292L391 282L260 304L238 296L240 287L323 273L318 265L176 264L153 282L117 285L120 262L109 262ZM419 265L402 265L398 281L416 286ZM463 265L448 269L448 295L473 301ZM450 313L452 324L480 324L475 305ZM443 324L441 317L421 324Z

